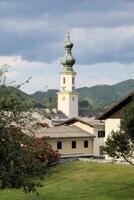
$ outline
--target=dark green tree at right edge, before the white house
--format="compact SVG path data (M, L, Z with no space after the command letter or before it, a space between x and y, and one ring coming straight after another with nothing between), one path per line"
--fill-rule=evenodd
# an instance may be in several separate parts
M105 151L113 158L124 158L134 165L134 100L123 112L120 130L107 138Z

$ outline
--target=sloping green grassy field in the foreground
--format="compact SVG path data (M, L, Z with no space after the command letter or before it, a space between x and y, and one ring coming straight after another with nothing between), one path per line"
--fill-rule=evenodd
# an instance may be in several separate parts
M0 200L132 200L134 167L89 162L64 163L52 169L34 193L0 191Z

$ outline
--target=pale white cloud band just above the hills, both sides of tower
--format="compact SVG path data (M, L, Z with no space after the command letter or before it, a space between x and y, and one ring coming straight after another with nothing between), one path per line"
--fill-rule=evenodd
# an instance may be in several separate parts
M9 72L7 80L15 80L18 84L32 77L29 84L22 86L22 90L33 93L37 90L60 88L60 75L62 66L59 62L51 63L28 61L21 56L0 57L0 66L7 63ZM134 79L134 63L96 63L91 65L74 66L77 72L76 87L91 87L98 84L114 84L129 78Z

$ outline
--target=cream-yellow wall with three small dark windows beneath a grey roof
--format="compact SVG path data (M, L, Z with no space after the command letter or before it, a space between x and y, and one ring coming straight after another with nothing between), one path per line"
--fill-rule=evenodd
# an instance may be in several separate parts
M88 140L88 148L84 148L84 140ZM57 150L57 141L62 142L61 154L86 154L93 155L93 138L48 139L48 143ZM76 149L72 149L72 141L76 141Z

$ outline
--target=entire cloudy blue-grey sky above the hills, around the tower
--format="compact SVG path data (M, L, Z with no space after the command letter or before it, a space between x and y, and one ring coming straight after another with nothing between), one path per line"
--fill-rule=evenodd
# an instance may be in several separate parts
M134 79L134 0L0 0L0 66L27 93L59 88L70 32L76 87Z

